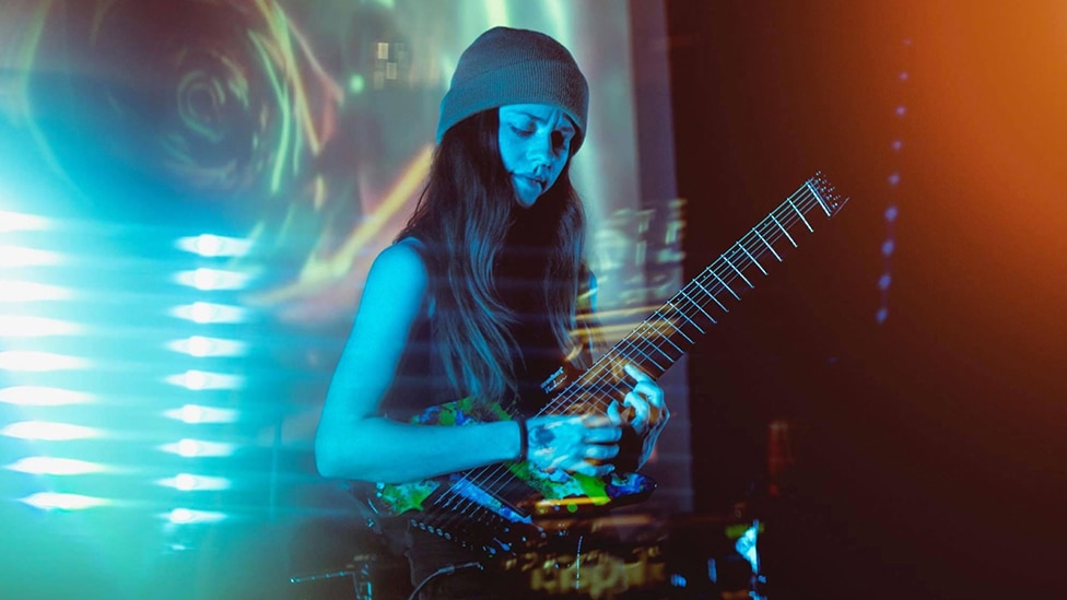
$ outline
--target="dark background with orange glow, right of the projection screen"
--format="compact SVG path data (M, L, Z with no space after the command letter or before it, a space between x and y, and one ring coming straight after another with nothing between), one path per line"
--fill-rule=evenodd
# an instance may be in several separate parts
M687 275L814 170L852 197L691 357L697 511L764 516L772 598L1059 597L1067 11L667 11Z

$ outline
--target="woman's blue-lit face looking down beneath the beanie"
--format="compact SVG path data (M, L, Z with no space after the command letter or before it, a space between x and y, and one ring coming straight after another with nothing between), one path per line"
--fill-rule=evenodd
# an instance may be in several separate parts
M563 172L571 156L575 128L563 110L547 104L500 107L500 150L512 177L515 197L524 208L537 199Z

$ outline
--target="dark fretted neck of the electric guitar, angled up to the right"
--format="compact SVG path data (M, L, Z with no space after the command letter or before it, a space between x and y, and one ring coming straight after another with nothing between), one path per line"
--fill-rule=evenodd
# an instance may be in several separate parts
M823 219L834 216L848 201L817 173L665 302L625 338L615 343L579 378L563 388L544 412L561 409L589 392L607 402L621 385L621 365L632 363L659 378L718 322L741 296L782 262L804 236Z

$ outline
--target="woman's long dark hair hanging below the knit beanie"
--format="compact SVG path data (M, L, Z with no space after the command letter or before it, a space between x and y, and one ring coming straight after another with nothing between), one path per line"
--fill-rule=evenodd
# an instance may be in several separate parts
M434 336L458 393L480 400L514 397L518 388L499 267L516 222L539 246L544 319L561 355L574 356L576 298L584 273L585 213L571 185L570 161L555 185L523 209L499 149L497 109L467 118L442 137L414 214L397 239L414 237L427 251L433 279ZM581 364L585 354L577 354Z

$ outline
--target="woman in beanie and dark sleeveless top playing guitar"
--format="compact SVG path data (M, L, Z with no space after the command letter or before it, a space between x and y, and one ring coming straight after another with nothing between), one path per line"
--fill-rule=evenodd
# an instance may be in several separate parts
M549 36L496 27L464 51L441 104L426 188L367 275L330 385L316 437L324 475L410 482L527 461L601 477L615 468L624 431L643 440L637 463L647 459L668 413L660 388L630 365L632 391L600 414L537 415L546 377L590 361L577 323L594 286L568 175L587 107L584 75ZM460 398L516 417L411 423ZM408 533L415 584L448 564L444 554L469 557L426 538Z

